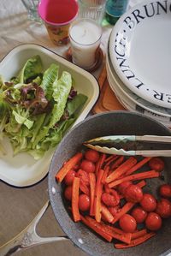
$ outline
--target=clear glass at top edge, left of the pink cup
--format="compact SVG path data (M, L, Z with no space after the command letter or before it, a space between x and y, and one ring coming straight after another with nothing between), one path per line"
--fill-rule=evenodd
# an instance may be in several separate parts
M27 9L28 18L32 21L42 22L38 15L38 3L39 0L21 0L25 8Z

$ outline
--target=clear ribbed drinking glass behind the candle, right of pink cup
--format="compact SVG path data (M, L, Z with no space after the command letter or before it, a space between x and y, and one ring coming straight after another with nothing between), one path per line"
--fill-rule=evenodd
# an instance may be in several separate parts
M101 24L105 11L106 0L79 0L80 18L91 19Z

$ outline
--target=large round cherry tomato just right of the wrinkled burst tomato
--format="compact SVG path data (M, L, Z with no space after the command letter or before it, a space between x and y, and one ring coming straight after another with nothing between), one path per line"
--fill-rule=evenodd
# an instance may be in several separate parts
M138 185L130 185L125 190L125 198L128 202L138 203L143 199L143 191Z

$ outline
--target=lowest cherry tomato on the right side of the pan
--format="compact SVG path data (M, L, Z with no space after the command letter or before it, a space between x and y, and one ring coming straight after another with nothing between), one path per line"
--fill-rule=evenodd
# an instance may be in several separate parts
M145 225L146 228L150 229L151 231L161 229L162 218L156 212L150 212L145 219Z

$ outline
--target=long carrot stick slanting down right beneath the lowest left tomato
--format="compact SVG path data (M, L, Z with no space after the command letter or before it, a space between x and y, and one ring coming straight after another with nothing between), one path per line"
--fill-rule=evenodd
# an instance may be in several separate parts
M106 225L104 223L97 223L97 221L89 216L85 217L92 225L94 224L95 226L97 226L99 229L101 229L104 233L111 235L113 238L119 240L119 241L123 241L126 242L127 244L129 244L131 242L131 233L116 233L113 229L110 229L109 225Z

